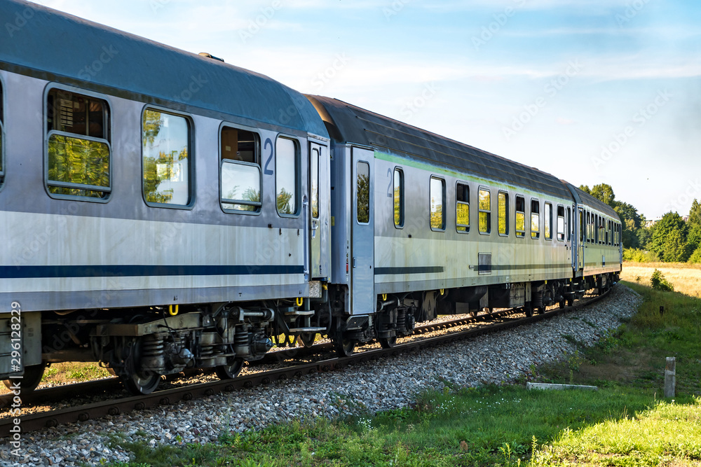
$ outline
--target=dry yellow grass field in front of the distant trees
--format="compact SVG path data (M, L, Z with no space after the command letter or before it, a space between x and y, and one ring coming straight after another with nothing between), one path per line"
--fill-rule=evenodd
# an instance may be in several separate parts
M665 275L674 291L701 298L701 265L687 263L623 263L620 278L649 286L654 270Z

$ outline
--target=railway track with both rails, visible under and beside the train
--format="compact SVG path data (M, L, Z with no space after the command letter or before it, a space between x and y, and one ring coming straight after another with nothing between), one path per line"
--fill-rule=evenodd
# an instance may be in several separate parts
M592 298L578 300L571 307L551 309L544 314L535 314L531 317L514 319L511 318L511 316L517 314L518 312L516 310L505 310L503 312L494 312L491 315L484 314L452 321L431 323L427 326L416 328L416 334L419 337L418 339L416 338L416 335L413 335L412 337L414 338L411 339L407 337L404 340L408 342L397 342L397 345L390 349L369 349L360 351L357 354L353 354L352 356L345 358L329 358L322 361L300 363L285 368L243 375L237 377L236 379L186 384L184 386L175 387L172 389L154 391L154 393L146 396L131 396L109 399L87 405L76 405L74 407L51 410L48 412L26 414L20 417L20 426L22 427L22 432L27 433L29 431L36 431L41 428L52 428L59 426L60 424L70 424L79 421L87 421L89 419L98 419L101 417L106 417L107 415L114 416L131 412L133 410L144 410L147 408L156 407L158 405L171 405L178 403L181 400L193 400L212 396L216 393L228 393L236 391L237 389L251 388L254 386L271 384L273 382L281 382L315 372L340 370L356 364L376 360L378 358L420 351L421 349L435 347L437 345L454 342L456 340L463 340L469 337L475 337L477 335L494 333L500 330L522 326L525 323L533 323L543 319L550 319L554 316L559 316L567 312L573 312L576 309L581 309L585 306L592 305L592 303L601 300L601 298L604 298L606 295L608 295L608 292ZM477 321L495 322L488 326L470 328L457 333L448 333L445 335L426 337L423 339L421 338L421 334L429 333L435 330L463 326L465 324L475 323ZM280 362L289 358L300 358L302 356L311 356L313 354L323 354L326 351L332 351L331 344L317 344L308 348L294 347L292 349L282 349L271 352L270 354L266 355L266 358L259 362L275 363L275 361ZM67 393L74 396L76 393L85 393L86 391L114 392L115 390L118 390L117 388L121 389L121 383L118 382L118 379L102 379L92 382L70 384L67 386L58 386L56 388L40 389L38 391L34 391L34 393L31 393L28 396L25 396L22 402L31 403L41 400L41 402L44 403L48 401L65 399ZM0 398L0 404L6 404L8 400L11 400L11 397L11 395L2 396ZM12 417L0 419L0 437L4 438L10 435L10 429L13 426L15 426L15 424L13 423Z

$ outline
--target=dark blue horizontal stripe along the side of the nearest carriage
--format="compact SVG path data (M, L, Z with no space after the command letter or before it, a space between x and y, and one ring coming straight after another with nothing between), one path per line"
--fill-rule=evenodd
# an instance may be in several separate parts
M304 265L97 265L97 266L0 266L0 279L61 277L140 276L236 276L263 274L304 274Z

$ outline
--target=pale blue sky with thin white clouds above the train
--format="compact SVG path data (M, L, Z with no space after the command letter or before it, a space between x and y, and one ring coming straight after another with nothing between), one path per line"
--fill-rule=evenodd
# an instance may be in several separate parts
M701 200L697 0L36 0L550 172Z

